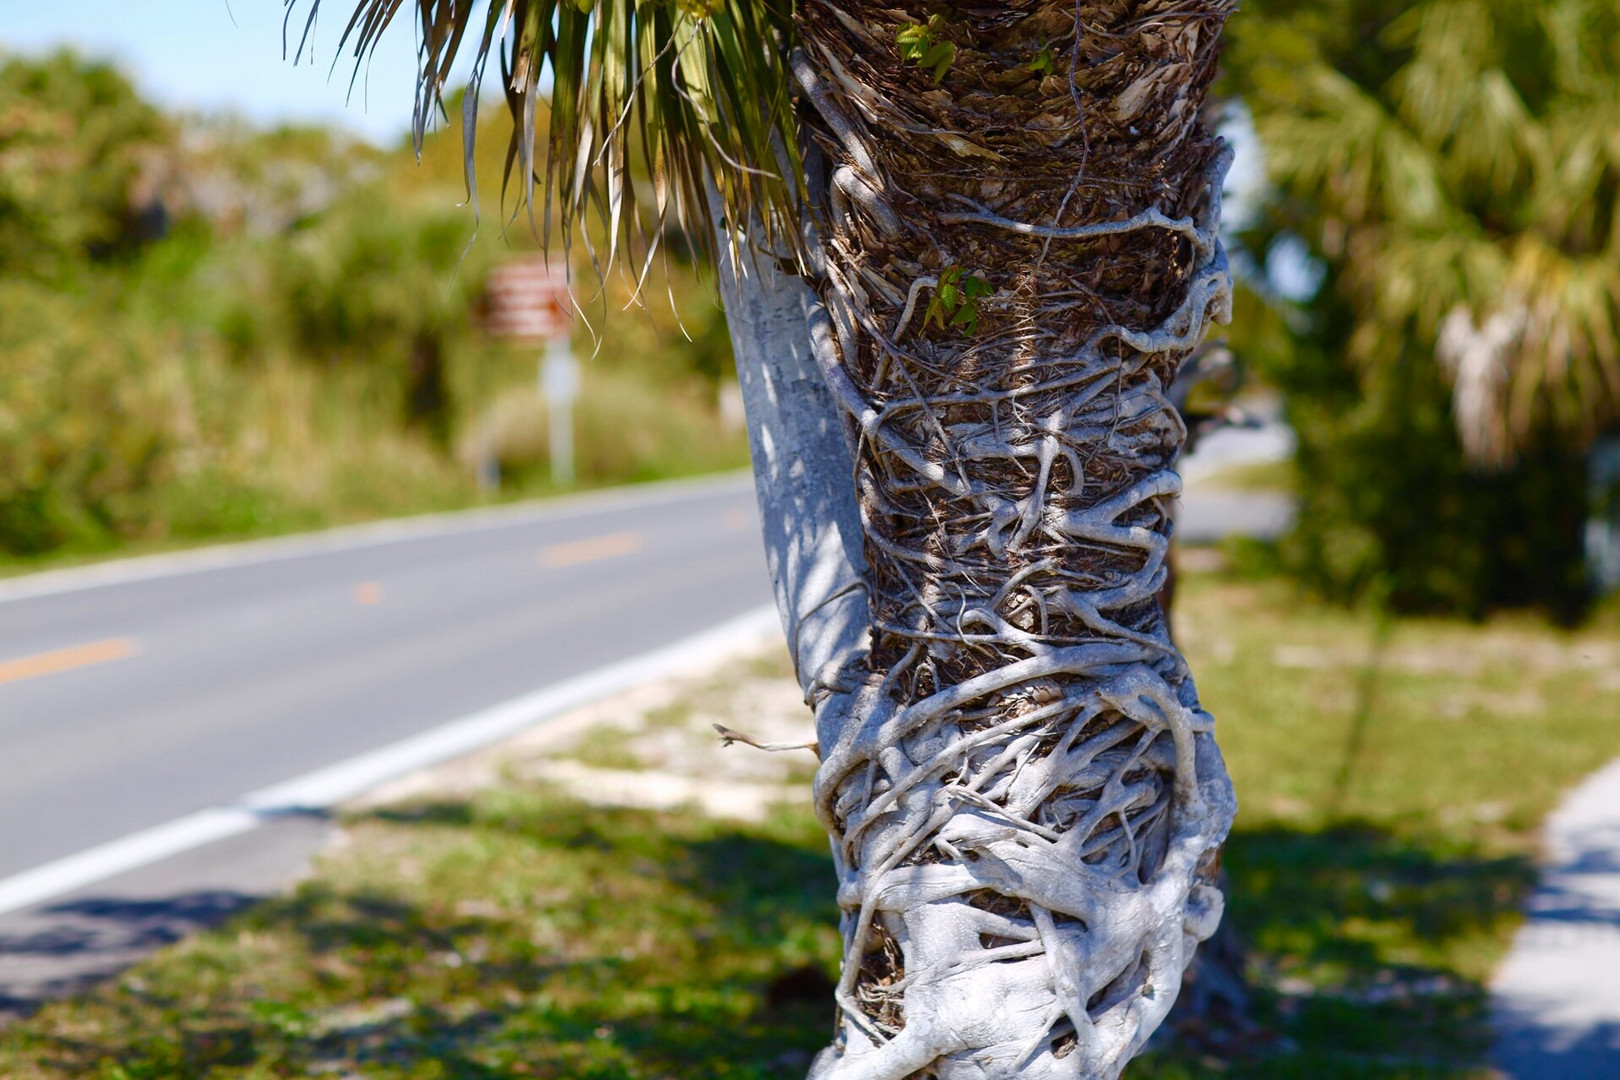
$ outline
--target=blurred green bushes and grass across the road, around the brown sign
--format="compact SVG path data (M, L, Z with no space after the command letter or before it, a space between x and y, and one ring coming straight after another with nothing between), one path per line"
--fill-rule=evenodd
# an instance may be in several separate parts
M0 552L488 497L457 447L499 402L535 400L538 351L489 342L478 298L533 241L475 228L460 133L431 141L418 165L324 130L165 117L71 53L0 60ZM505 136L480 142L494 207ZM706 287L659 261L643 291L672 303L625 317L633 288L577 290L582 483L744 465L716 423L731 359ZM543 419L501 408L507 492L544 489Z

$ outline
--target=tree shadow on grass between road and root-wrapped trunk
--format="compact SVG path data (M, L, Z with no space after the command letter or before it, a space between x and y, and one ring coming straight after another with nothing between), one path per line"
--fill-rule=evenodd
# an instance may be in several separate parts
M763 1080L802 1077L826 1041L838 912L813 836L552 800L421 803L355 824L366 821L405 831L390 844L421 860L429 886L329 873L71 1006L78 1020L47 1012L0 1033L0 1062L11 1041L45 1075L118 1080ZM478 887L494 882L465 865L457 881L478 884L431 886L484 848L523 860L539 899L496 904ZM599 895L548 899L536 871L551 866ZM656 902L609 912L620 894Z

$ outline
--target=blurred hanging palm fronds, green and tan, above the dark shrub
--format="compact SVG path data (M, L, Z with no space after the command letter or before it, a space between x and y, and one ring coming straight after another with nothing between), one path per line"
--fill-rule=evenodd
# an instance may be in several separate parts
M1620 415L1620 8L1256 5L1234 66L1358 369L1426 348L1476 466Z

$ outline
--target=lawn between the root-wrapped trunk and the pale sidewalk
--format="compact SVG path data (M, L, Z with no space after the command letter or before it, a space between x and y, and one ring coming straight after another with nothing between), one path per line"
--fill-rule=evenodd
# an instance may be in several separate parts
M1484 984L1536 826L1620 755L1615 620L1382 622L1189 575L1176 633L1238 789L1228 910L1281 1040L1134 1075L1487 1077Z

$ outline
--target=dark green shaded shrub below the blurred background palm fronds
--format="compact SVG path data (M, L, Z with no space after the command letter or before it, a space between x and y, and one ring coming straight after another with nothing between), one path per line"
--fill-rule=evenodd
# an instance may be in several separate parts
M1314 364L1332 359L1317 353ZM1340 601L1484 615L1541 607L1580 619L1586 473L1542 436L1508 470L1469 466L1432 361L1367 376L1359 393L1290 395L1299 513L1281 563Z

